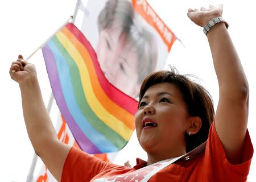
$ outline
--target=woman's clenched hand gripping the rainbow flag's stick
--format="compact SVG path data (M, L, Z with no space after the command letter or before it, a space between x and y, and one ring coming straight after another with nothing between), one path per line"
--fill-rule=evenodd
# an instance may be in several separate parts
M18 60L14 61L11 64L9 73L11 78L19 84L23 81L32 80L32 78L36 78L35 66L23 60L22 55L19 55Z

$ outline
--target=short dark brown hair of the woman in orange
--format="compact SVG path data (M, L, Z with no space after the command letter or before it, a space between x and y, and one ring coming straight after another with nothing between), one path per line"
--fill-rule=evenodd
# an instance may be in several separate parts
M189 152L200 146L208 138L210 125L214 119L213 100L208 91L201 85L189 79L189 75L180 75L175 68L171 71L158 71L150 73L142 82L139 93L139 102L141 102L146 90L150 86L168 82L177 86L185 104L188 114L192 117L200 117L202 125L200 130L193 135L185 133L186 151Z

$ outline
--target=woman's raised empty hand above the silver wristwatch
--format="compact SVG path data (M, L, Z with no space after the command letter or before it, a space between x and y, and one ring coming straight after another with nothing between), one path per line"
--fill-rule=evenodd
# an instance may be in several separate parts
M205 7L201 7L198 9L188 9L188 18L192 20L192 22L196 23L200 27L204 27L211 19L219 17L222 15L223 6L212 6L209 5L209 9Z

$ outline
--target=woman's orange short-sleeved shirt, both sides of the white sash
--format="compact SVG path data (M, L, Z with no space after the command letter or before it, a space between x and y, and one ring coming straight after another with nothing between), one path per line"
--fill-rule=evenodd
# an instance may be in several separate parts
M253 145L248 131L241 156L241 164L230 164L226 159L224 148L218 138L214 122L210 127L205 150L199 155L181 159L156 172L148 181L246 181L249 173ZM103 162L72 147L63 167L61 181L90 181L104 178L106 181L128 182L136 179L136 171L146 166L146 162L137 159L133 168ZM146 173L150 171L145 171ZM145 173L145 174L146 174ZM118 176L119 175L119 176ZM114 177L111 177L114 176ZM137 176L141 181L143 177Z

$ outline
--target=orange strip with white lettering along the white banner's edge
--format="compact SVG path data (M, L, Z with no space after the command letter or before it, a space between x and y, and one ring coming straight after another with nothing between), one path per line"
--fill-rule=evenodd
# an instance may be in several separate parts
M133 8L147 21L148 24L155 28L170 52L172 44L174 44L176 40L174 32L164 24L162 19L160 19L158 14L155 13L146 0L133 0Z

